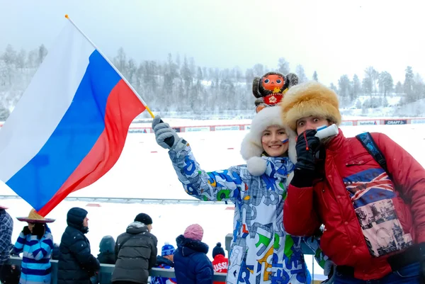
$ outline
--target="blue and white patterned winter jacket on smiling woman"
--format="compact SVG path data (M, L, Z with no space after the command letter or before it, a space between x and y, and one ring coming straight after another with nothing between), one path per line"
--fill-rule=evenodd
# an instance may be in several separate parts
M171 149L169 156L186 193L200 200L235 204L228 284L306 283L303 239L283 228L283 201L294 169L288 158L263 157L266 173L252 176L246 165L207 173L188 144Z

